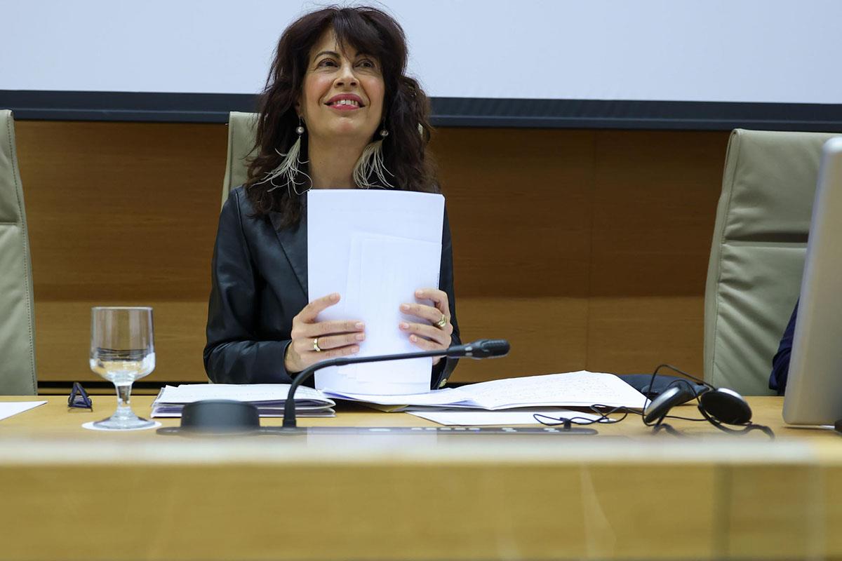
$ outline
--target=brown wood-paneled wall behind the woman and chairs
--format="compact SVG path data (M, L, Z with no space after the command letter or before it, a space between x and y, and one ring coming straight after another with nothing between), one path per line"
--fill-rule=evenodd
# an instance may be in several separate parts
M94 304L155 307L149 380L205 379L225 126L19 121L17 134L39 379L95 378ZM726 145L724 132L439 130L462 338L512 341L454 380L701 373Z

